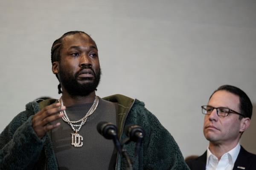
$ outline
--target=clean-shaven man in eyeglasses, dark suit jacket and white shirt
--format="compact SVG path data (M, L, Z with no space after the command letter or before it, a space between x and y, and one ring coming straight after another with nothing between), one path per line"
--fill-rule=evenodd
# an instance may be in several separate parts
M250 98L241 89L220 86L202 106L207 151L187 161L191 170L256 170L256 155L239 144L252 116Z

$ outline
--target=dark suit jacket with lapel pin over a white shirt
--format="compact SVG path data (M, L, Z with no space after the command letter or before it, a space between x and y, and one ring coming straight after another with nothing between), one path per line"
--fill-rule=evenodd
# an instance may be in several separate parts
M207 157L207 151L203 155L199 156L198 158L189 160L186 163L188 164L191 170L205 170L206 159L207 159L206 157ZM243 167L245 169L243 169ZM256 170L256 155L247 152L241 146L241 149L236 158L236 162L234 164L233 170Z

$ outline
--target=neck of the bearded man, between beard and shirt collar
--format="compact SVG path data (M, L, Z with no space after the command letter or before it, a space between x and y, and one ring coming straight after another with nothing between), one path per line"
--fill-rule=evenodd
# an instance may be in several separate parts
M95 99L95 91L91 92L87 96L71 96L68 92L62 91L62 100L66 107L72 106L74 104L86 104L93 103Z

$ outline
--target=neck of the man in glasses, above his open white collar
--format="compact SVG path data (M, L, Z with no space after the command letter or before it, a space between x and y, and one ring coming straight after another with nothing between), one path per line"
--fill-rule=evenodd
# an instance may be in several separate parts
M209 143L209 150L213 155L215 155L218 160L221 159L221 156L223 156L225 153L228 151L232 150L236 145L238 144L239 141L234 141L229 144L219 144L219 143L214 143L211 142Z

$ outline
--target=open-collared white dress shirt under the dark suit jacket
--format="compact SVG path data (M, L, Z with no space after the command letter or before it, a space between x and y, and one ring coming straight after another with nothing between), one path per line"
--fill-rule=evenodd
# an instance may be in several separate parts
M211 153L208 147L206 170L233 170L240 148L240 144L237 144L236 147L221 156L221 159L218 161L218 158Z

